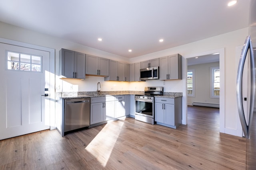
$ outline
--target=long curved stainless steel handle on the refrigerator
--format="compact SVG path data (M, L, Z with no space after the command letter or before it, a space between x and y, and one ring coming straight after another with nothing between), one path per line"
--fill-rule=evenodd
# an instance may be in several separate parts
M245 115L244 115L244 107L242 103L242 78L243 78L243 70L244 63L246 59L246 55L248 50L250 49L250 68L251 68L251 88L250 88L250 110L249 110L249 120L248 124L246 123ZM244 131L244 135L247 139L250 137L250 128L252 125L252 116L253 116L253 107L254 107L254 92L255 92L255 73L254 73L254 55L253 55L253 47L250 35L246 37L244 42L244 47L242 49L240 61L238 64L238 73L236 78L236 98L237 98L237 106L238 106L238 114L241 121L242 129Z

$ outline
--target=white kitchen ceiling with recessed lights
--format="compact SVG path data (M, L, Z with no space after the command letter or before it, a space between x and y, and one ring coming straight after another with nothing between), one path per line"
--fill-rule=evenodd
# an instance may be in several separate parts
M248 27L228 1L0 0L0 21L132 58Z

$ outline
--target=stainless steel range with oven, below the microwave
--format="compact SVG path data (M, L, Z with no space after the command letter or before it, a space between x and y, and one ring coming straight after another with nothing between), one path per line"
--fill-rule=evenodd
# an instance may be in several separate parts
M144 94L135 95L135 119L155 123L154 96L163 95L163 87L145 87Z

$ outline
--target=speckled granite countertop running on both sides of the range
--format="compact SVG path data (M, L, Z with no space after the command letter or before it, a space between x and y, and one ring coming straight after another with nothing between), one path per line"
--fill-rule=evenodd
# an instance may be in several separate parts
M74 98L94 98L94 97L106 97L106 96L122 96L122 95L136 95L144 94L144 91L105 91L105 92L58 92L56 96L62 99L74 99ZM182 97L181 92L164 92L164 95L156 96L162 98L178 98Z

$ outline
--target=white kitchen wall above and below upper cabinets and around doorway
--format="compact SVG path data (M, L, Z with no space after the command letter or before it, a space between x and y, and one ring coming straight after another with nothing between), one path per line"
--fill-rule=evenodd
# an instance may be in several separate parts
M43 35L34 31L30 31L27 29L23 29L20 27L12 26L6 23L0 22L0 37L6 38L6 39L12 39L15 41L22 41L25 43L30 43L34 45L40 45L44 47L49 47L55 49L56 53L56 70L58 70L58 57L59 57L59 50L61 48L71 49L74 51L79 51L83 53L88 53L91 55L96 55L100 57L104 57L107 59L113 59L116 61L126 61L130 63L135 63L139 61L145 61L148 59L153 59L157 57L164 57L167 55L172 55L179 53L181 54L184 59L194 56L199 56L200 54L206 54L208 51L216 51L216 49L224 49L224 55L220 55L220 61L223 62L224 67L224 76L225 77L225 94L224 94L224 117L221 117L221 121L224 121L221 123L220 126L224 126L225 130L223 132L236 135L236 129L239 122L236 121L236 60L235 60L235 49L239 45L243 45L244 39L248 35L248 28L239 29L237 31L233 31L230 33L218 35L215 37L211 37L208 39L203 39L200 41L196 41L193 43L189 43L186 45L181 45L178 47L166 49L163 51L158 51L155 53L151 53L148 55L143 55L140 57L136 57L133 59L126 59L121 56L113 55L110 53L106 53L104 51L92 49L90 47L86 47L83 45L79 45L76 43L72 43L69 41L65 41L63 39L58 39L56 37L52 37L49 35ZM222 59L223 57L224 59ZM183 77L186 75L184 72L187 70L186 60L182 60L183 64ZM222 66L222 63L220 63L220 67ZM185 76L186 77L186 76ZM89 78L90 79L90 78ZM96 83L98 81L103 82L102 78L92 78L92 81L88 82L88 80L81 80L81 82L77 82L77 80L70 80L72 81L72 84L79 84L78 90L86 90L88 87L87 83L91 83L90 88L88 88L88 91L96 90ZM84 81L84 82L82 82ZM59 82L57 82L59 83ZM66 82L63 82L65 84ZM164 86L165 91L169 92L183 92L183 98L182 98L182 123L186 124L186 78L183 78L183 80L174 80L174 81L160 81L156 80L154 82L132 82L129 85L123 84L123 83L116 83L116 82L104 82L106 83L105 86L109 86L107 89L111 89L112 86L116 84L116 89L123 89L122 90L143 90L144 86L148 85L159 85ZM103 84L104 84L103 83ZM62 84L62 83L60 83ZM171 88L169 90L169 87ZM102 86L102 90L104 89L104 85ZM126 89L127 88L127 89ZM113 89L115 90L115 89ZM222 120L223 119L223 120ZM222 129L222 127L221 127Z

